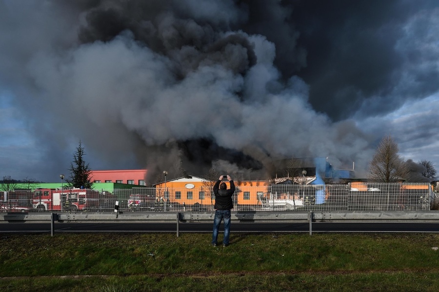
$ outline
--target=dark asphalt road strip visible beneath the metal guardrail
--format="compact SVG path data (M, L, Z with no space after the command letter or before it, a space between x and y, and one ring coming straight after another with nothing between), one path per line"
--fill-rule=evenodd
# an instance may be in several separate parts
M212 223L180 223L179 232L211 232ZM222 227L222 225L221 225ZM2 223L0 233L50 233L50 223ZM309 223L234 223L232 232L309 232ZM177 232L177 223L58 223L54 232ZM312 223L312 232L439 232L439 223Z

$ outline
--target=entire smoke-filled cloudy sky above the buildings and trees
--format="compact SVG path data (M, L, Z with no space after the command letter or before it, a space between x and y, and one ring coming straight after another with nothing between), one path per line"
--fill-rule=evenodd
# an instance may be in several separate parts
M0 0L0 177L439 167L437 0Z

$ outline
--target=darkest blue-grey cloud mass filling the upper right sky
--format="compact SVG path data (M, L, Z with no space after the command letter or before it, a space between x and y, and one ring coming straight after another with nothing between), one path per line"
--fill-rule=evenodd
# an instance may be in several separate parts
M436 1L277 2L267 7L266 1L251 1L245 26L276 44L275 65L282 76L298 75L310 85L315 110L346 119L367 101L361 112L367 117L438 91L438 69L415 65L437 58L423 50L426 36L437 32L428 23ZM419 83L404 88L404 77Z

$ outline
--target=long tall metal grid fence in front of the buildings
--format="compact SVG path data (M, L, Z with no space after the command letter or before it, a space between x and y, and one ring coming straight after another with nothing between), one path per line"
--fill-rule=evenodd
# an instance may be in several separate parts
M237 186L234 211L411 211L430 210L435 197L426 183ZM119 212L214 210L206 189L139 187L0 193L0 212Z

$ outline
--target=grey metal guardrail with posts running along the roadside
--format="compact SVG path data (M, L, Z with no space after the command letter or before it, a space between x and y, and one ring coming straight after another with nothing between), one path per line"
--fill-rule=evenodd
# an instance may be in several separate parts
M51 222L51 234L54 234L55 223L93 222L93 223L176 223L179 236L179 224L190 222L212 222L214 212L95 212L95 213L3 213L0 223L41 223ZM438 211L242 211L232 212L231 220L236 223L303 223L309 222L309 233L312 234L313 222L439 222Z

